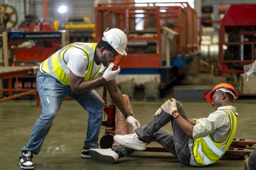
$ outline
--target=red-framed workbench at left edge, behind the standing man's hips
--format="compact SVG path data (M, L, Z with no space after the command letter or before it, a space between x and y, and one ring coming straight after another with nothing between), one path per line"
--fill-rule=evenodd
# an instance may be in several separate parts
M8 88L0 89L0 92L9 92L9 96L0 99L0 102L10 101L17 98L22 98L23 96L36 93L36 105L39 106L39 94L37 89L34 88L12 88L12 78L18 76L32 75L39 69L39 66L7 66L0 67L0 80L8 79ZM12 94L12 92L20 92L18 94Z

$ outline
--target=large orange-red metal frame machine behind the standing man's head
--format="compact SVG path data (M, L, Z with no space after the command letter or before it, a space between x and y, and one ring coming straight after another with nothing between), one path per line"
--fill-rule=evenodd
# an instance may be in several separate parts
M161 27L178 32L178 46L170 57L199 49L200 29L196 11L188 3L107 3L95 8L96 41L103 31L119 28L128 38L128 57L122 68L161 68ZM178 5L177 5L178 4ZM146 5L146 6L141 6ZM143 31L136 29L142 23ZM163 37L162 37L163 39ZM167 64L168 65L168 64Z

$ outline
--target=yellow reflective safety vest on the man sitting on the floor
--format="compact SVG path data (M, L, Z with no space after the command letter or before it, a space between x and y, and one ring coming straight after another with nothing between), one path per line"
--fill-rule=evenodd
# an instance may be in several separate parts
M237 128L237 115L230 109L223 109L222 111L228 113L230 118L230 131L227 138L223 142L214 141L210 134L206 137L200 137L194 140L193 154L198 164L205 166L215 163L220 159L224 153L228 150L234 133Z

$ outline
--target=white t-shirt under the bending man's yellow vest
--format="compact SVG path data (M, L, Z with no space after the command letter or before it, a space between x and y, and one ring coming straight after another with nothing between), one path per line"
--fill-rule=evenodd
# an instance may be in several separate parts
M73 72L74 75L79 76L79 77L86 76L86 69L88 67L88 56L86 53L84 53L83 50L81 50L80 48L76 48L76 47L70 48L69 50L67 50L65 52L63 58L64 58L64 61L67 63L67 66ZM40 65L40 69L41 69L41 65ZM90 78L94 77L94 75L97 73L99 67L100 67L100 65L97 65L94 61L92 74L91 74ZM42 72L44 72L44 71L42 71Z

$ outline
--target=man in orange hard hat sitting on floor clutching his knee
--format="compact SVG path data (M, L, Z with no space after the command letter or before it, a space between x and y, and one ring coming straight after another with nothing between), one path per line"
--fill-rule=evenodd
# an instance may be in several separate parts
M207 101L215 112L207 118L188 119L182 104L175 99L167 100L156 111L150 123L137 128L133 134L115 135L120 145L112 149L91 149L90 155L106 163L115 163L133 151L144 151L153 140L178 160L190 166L215 163L229 148L237 126L237 91L227 83L221 83L207 94ZM172 123L173 133L162 129Z

